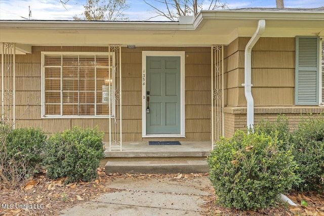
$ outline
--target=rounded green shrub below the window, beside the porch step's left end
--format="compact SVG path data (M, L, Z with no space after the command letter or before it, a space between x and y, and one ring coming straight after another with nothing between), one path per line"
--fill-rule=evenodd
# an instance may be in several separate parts
M68 182L92 181L97 177L103 154L103 133L94 129L73 127L49 138L44 164L49 178L68 177Z

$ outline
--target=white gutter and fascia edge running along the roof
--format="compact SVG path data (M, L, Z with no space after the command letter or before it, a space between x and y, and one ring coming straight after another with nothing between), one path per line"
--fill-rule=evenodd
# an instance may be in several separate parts
M102 30L195 30L204 19L247 20L320 20L324 11L200 11L191 22L170 21L62 21L62 20L0 20L2 29L102 29Z

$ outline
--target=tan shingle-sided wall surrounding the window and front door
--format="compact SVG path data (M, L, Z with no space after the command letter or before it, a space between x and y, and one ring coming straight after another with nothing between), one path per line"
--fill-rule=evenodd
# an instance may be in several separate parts
M32 54L16 55L16 117L18 127L42 127L49 134L72 126L99 126L108 141L107 119L41 118L41 52L107 52L107 47L32 47ZM211 48L137 47L121 49L123 141L142 138L142 51L185 51L186 138L180 141L210 140ZM174 140L174 139L149 139Z

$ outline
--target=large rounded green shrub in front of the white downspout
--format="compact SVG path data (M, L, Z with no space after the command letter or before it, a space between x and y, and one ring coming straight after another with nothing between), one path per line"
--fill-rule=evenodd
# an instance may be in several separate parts
M207 161L210 180L225 207L267 208L296 179L291 152L280 150L276 137L263 134L237 131L217 142Z

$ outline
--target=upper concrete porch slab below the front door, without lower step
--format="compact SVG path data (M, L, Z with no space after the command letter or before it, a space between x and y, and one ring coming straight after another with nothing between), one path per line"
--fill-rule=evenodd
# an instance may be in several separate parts
M181 145L148 145L148 142L123 142L122 150L105 143L106 157L206 157L212 150L211 142L180 142Z

